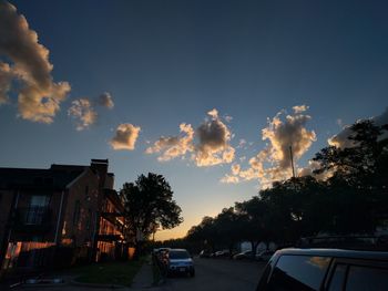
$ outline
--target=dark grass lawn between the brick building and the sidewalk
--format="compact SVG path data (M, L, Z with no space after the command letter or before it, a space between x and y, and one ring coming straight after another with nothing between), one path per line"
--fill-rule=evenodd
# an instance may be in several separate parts
M75 281L94 284L131 287L132 280L144 263L144 259L127 262L92 263L69 270Z

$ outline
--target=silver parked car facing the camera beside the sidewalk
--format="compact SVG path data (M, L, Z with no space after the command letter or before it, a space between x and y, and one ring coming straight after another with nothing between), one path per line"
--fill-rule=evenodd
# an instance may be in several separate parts
M194 262L185 249L170 249L167 252L167 274L185 273L195 276Z

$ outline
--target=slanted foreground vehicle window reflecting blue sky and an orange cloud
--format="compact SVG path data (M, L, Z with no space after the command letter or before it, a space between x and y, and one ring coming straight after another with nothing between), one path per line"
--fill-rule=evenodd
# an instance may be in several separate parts
M319 290L329 262L325 257L282 256L267 290Z

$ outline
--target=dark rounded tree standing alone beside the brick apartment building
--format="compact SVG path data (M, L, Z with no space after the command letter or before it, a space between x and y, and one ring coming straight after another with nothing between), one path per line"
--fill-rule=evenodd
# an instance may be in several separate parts
M125 225L136 247L157 227L172 229L183 221L182 209L173 200L171 186L162 175L141 175L135 183L125 183L120 194L124 200Z

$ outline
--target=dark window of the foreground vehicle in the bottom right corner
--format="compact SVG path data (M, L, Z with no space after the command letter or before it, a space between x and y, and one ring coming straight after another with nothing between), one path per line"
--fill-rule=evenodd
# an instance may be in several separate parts
M350 266L346 290L388 290L388 269Z

